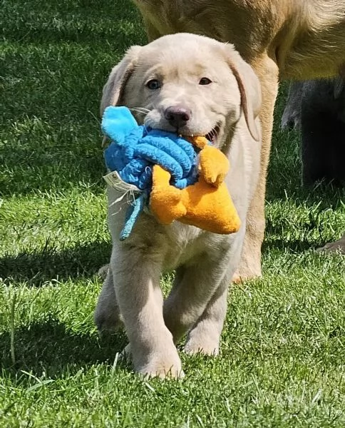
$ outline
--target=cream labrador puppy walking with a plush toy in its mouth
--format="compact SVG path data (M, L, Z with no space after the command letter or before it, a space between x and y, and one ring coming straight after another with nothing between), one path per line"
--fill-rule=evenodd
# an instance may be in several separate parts
M232 45L175 34L129 49L103 89L101 110L108 105L128 106L137 112L138 122L153 128L213 136L212 143L230 160L225 182L242 220L232 235L177 221L161 225L142 213L121 242L127 203L115 203L118 190L108 188L113 250L96 325L113 330L124 323L129 339L125 353L136 371L178 377L183 372L175 344L186 333L185 352L219 352L227 288L240 260L259 174L259 80ZM163 304L160 275L166 270L176 273Z

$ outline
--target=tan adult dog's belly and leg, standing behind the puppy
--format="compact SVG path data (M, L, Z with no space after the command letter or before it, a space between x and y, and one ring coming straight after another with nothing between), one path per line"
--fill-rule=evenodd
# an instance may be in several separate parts
M279 78L335 76L345 61L343 0L133 0L150 40L181 31L235 44L262 86L261 173L238 273L261 275L264 193Z

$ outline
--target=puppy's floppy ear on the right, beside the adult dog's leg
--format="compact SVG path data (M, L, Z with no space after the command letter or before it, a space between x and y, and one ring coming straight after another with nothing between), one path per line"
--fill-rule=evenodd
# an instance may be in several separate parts
M232 45L227 44L226 49L227 62L240 90L241 107L247 127L252 138L255 141L259 141L260 132L255 123L255 119L261 109L261 86L259 78L254 73L252 67L242 59Z

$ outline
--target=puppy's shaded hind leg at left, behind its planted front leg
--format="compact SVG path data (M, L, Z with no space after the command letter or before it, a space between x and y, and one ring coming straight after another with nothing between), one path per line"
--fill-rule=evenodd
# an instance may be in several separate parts
M123 327L123 320L115 295L113 272L108 265L107 268L108 272L103 283L101 294L98 297L94 315L99 332L104 330L114 332Z

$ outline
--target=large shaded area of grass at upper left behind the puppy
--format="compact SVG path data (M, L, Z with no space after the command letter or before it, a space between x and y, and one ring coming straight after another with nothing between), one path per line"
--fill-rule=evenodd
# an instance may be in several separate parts
M130 0L5 0L1 12L0 195L103 185L102 87L145 43L138 11Z

